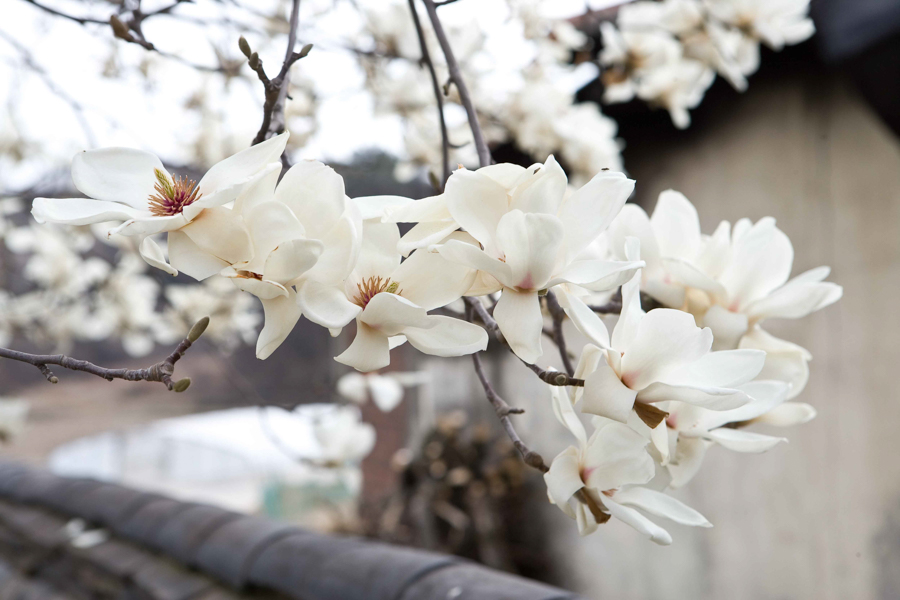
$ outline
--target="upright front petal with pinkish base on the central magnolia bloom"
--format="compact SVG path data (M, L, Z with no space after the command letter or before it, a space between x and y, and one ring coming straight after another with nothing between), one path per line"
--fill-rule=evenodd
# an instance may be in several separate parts
M563 226L552 215L513 210L500 219L496 241L512 273L512 287L537 291L545 288L553 275Z

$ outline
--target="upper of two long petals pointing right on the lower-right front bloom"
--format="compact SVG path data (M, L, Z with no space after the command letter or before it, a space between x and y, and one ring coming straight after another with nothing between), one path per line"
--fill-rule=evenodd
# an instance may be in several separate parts
M762 350L722 350L672 371L663 380L672 385L735 387L759 375L766 362Z

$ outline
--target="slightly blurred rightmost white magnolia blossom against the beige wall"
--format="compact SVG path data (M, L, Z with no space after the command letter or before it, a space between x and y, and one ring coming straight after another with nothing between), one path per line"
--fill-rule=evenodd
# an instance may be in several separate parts
M715 349L764 350L765 379L791 383L799 394L809 377L811 356L761 327L768 318L800 318L837 302L841 286L823 281L828 267L818 267L788 281L794 250L771 217L752 224L738 221L733 230L723 221L716 231L700 233L694 206L682 194L663 192L653 216L637 206L623 208L610 226L610 237L641 240L643 288L662 304L691 312L711 328Z

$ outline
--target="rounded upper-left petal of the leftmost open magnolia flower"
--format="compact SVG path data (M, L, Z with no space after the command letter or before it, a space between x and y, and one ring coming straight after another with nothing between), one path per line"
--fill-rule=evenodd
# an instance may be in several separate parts
M156 170L169 176L160 160L131 148L101 148L79 152L72 159L72 180L78 191L97 200L122 202L147 210L156 192Z

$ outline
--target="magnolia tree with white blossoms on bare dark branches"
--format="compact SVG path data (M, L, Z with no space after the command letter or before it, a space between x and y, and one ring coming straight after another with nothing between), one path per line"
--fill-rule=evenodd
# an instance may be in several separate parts
M497 123L488 115L503 105L479 106L451 31L439 18L442 4L409 2L393 5L390 18L371 16L380 43L395 58L425 67L433 96L420 98L419 108L436 106L440 118L428 125L437 133L422 140L446 173L437 179L436 195L349 198L341 176L327 165L286 165L290 68L310 50L295 52L295 0L277 75L240 40L265 88L254 145L196 179L172 174L147 152L86 151L72 163L72 178L86 198L37 198L32 207L32 240L51 235L45 233L55 231L51 224L115 222L106 227L109 240L118 240L111 243L130 244L160 272L184 273L203 282L198 289L230 281L229 289L239 292L225 301L228 307L220 307L223 296L217 296L215 311L209 309L213 319L199 319L166 359L146 369L107 369L65 355L7 349L0 356L36 366L54 383L51 367L61 366L183 391L190 380L174 378L176 361L207 326L213 331L220 312L240 320L240 307L255 296L264 312L258 358L275 353L301 317L334 336L352 327L353 341L335 360L368 375L344 378L339 391L356 401L371 396L385 409L396 405L404 384L375 373L390 365L392 348L408 343L434 356L470 355L503 429L525 463L544 474L550 501L582 534L616 518L654 542L670 543L648 514L710 526L666 490L687 484L711 445L762 452L784 438L749 427L797 425L815 416L811 406L793 401L808 378L809 352L767 333L763 322L819 310L841 297L841 287L824 281L827 267L791 278L793 248L772 218L722 222L704 234L693 205L678 192L661 194L650 216L626 204L635 182L613 159L604 159L612 168L597 166L589 177L584 169L595 163L579 163L573 176L578 187L552 154L529 167L495 164L489 143ZM561 61L561 49L585 42L571 23L538 27L526 18L527 4L516 6L534 25L527 35L548 40L547 56ZM427 17L419 14L422 7ZM805 2L763 0L623 7L619 28L603 25L607 94L662 104L677 124L686 124L686 108L696 104L697 90L705 89L713 71L743 87L761 41L780 47L810 35L805 9ZM137 39L140 32L129 31L120 27L117 35ZM706 83L688 84L687 71L702 71L697 81ZM373 85L404 81L382 75L372 71ZM535 85L544 89L540 81ZM580 129L565 114L581 112L579 106L570 102L561 112L547 112L535 97L523 100L531 93L540 96L525 90L509 105L525 112L495 113L510 119L509 131L519 131L522 139L540 134L532 138L540 140L534 151L559 149L567 164L583 149L591 154L590 136L570 144L560 133ZM456 144L443 118L450 101L464 109L472 140L466 151L478 168L460 165L450 173ZM591 106L585 114L605 118ZM528 124L538 113L543 121ZM483 121L489 122L484 129ZM602 155L608 140L595 141L600 153L592 156ZM412 224L404 235L401 223ZM37 263L33 271L43 277L49 266ZM72 285L77 295L79 284ZM128 295L134 286L121 287L121 306L140 301ZM198 293L184 302L202 311L205 300ZM582 347L567 343L566 322L586 340ZM517 434L514 421L523 410L498 394L482 364L489 343L518 357L534 373L534 385L546 389L559 424L572 436L554 458L545 459ZM559 370L539 366L555 353ZM343 440L341 447L355 436L357 421L358 416L330 426L341 429L346 422L343 431L332 432Z

